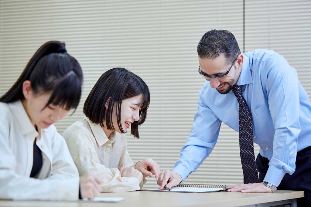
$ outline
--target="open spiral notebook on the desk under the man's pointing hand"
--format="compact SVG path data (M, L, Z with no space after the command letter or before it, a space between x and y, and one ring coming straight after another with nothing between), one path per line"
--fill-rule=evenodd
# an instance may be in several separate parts
M140 191L207 193L207 192L227 191L227 189L225 185L180 183L179 185L172 187L171 190L165 190L165 189L160 190L160 188L154 188L154 189L142 189Z

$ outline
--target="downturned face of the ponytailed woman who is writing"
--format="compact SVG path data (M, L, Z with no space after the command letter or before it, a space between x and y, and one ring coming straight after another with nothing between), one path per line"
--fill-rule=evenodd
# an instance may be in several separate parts
M30 81L26 84L25 82L23 84L25 99L22 100L22 103L33 125L39 128L47 128L67 115L68 110L58 105L49 104L45 107L50 99L51 92L35 94L31 89Z

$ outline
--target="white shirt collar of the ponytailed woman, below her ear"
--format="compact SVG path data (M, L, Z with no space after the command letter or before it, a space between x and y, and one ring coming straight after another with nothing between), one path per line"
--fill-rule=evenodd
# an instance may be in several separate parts
M13 116L16 119L18 127L21 130L21 134L24 136L29 136L30 138L37 137L39 133L31 124L31 121L25 111L23 104L21 103L21 100L9 103L8 105L12 111Z

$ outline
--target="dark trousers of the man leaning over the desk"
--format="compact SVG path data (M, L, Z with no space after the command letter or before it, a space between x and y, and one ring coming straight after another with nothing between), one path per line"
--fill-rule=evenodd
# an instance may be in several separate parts
M256 159L259 172L259 182L263 182L266 176L269 160L258 154ZM290 175L285 174L278 190L304 191L304 198L297 199L297 206L311 207L311 146L297 152L296 170Z

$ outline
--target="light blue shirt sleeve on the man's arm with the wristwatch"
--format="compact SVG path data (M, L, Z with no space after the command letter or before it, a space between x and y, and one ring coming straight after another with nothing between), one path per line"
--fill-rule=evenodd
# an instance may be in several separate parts
M264 181L278 186L285 173L295 171L299 123L299 80L295 68L281 55L266 61L266 90L274 124L273 154Z

